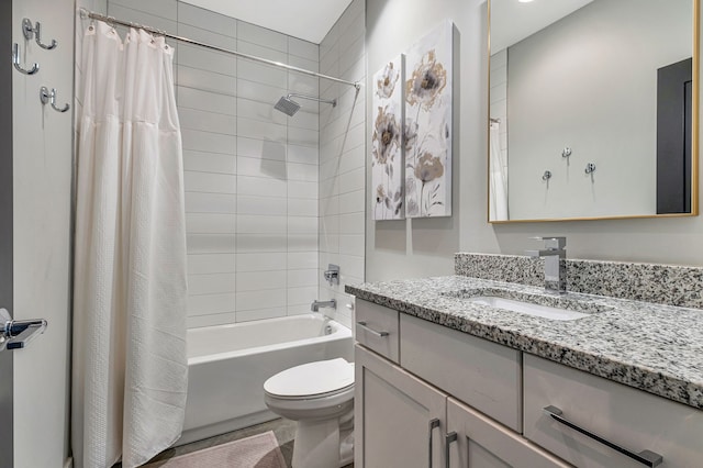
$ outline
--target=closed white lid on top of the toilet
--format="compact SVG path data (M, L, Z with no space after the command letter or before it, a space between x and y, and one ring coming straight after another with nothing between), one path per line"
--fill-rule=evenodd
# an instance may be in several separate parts
M330 393L354 385L354 363L343 358L291 367L264 382L264 390L280 397Z

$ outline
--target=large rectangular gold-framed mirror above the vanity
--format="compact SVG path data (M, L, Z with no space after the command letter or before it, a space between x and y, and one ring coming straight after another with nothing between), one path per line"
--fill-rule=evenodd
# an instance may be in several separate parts
M489 222L698 214L698 12L489 0Z

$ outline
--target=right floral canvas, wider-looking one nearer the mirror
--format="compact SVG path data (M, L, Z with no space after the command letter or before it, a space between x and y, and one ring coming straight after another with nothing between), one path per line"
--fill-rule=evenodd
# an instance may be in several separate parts
M405 214L451 215L451 43L447 21L405 56Z

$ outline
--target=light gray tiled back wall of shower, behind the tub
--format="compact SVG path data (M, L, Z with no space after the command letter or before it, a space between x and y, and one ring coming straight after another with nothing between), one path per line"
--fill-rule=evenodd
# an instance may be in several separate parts
M109 0L108 14L319 68L316 44L180 1ZM317 96L319 79L174 45L186 169L189 326L310 311L319 287L319 107L301 101L303 109L288 118L274 104L291 91Z

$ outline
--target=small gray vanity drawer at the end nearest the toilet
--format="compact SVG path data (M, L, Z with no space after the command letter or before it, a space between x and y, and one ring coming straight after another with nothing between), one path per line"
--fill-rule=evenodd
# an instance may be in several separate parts
M398 363L399 312L368 301L356 301L356 341Z

